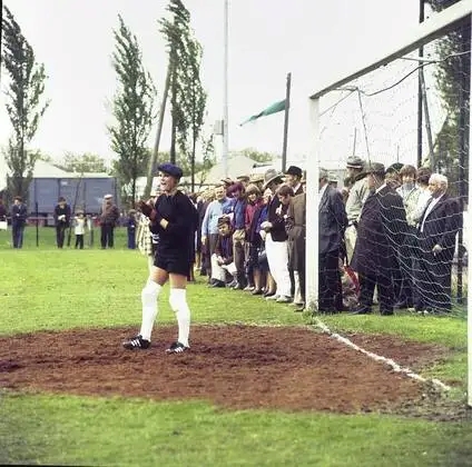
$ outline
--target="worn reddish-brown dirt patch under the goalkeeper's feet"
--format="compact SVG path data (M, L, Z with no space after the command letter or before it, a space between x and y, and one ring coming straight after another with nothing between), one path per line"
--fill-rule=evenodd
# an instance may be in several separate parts
M0 387L91 396L204 399L230 408L391 411L425 386L306 328L196 326L191 349L166 355L176 327L158 327L148 350L121 341L134 328L76 329L0 338ZM444 349L390 336L352 340L419 369Z

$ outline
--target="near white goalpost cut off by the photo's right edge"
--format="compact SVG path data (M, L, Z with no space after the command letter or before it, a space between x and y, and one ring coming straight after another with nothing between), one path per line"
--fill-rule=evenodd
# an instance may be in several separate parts
M471 18L471 24L472 24L472 16ZM471 40L472 46L472 40ZM472 50L472 49L470 49ZM469 77L471 83L469 89L469 102L472 102L472 73ZM471 141L472 141L472 112L471 112L471 106L469 106L469 158L468 158L468 168L469 168L469 196L468 196L468 210L464 212L464 216L468 220L468 227L472 226L472 209L471 209L471 201L472 201L472 170L471 170ZM470 232L469 232L470 235ZM471 252L468 251L468 405L469 407L472 407L472 294L469 295L471 289L469 287L472 287L472 265L471 265Z

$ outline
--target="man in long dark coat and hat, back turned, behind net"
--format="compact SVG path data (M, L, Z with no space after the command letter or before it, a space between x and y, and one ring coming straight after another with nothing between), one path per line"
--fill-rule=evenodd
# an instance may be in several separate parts
M377 286L381 315L393 315L394 277L399 268L399 247L407 229L402 198L385 183L385 168L372 162L367 168L371 193L362 208L352 268L358 274L360 305L354 314L371 312Z

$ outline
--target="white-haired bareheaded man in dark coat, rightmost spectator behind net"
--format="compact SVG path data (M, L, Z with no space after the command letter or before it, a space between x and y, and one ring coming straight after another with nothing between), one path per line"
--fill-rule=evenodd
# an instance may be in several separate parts
M414 259L417 311L451 311L451 272L455 236L462 228L460 202L446 193L448 178L430 177L431 199L417 226L419 248Z

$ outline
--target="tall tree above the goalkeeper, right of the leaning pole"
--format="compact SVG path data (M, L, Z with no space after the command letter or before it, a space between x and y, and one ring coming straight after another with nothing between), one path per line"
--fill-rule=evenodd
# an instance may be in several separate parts
M205 121L207 95L200 80L203 49L190 28L190 13L181 0L170 0L171 19L159 21L166 38L171 68L173 141L170 160L176 159L175 142L190 160L191 189L195 185L196 146Z

